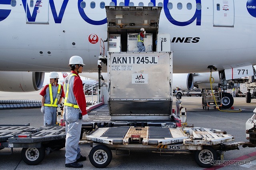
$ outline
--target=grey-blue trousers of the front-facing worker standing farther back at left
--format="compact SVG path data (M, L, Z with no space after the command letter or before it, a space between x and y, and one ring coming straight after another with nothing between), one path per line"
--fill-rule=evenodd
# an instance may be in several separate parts
M56 124L57 121L57 107L44 106L44 125Z

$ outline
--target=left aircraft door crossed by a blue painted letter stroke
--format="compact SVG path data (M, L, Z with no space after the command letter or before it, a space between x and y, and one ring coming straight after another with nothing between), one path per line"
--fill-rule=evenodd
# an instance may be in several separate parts
M49 24L49 0L26 0L27 24Z

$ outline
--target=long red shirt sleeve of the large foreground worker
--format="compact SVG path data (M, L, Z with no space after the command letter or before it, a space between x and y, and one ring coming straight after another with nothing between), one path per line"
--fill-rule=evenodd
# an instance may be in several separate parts
M75 71L71 71L71 74L76 74L77 76L74 76L74 86L73 86L73 92L74 96L76 98L76 102L82 111L82 115L87 114L86 112L86 100L84 96L84 90L83 90L83 82L78 76L78 74Z

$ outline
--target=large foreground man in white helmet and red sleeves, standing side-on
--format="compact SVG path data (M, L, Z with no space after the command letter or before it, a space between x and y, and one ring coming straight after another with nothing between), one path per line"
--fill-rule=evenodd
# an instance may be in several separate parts
M66 121L65 166L71 168L82 168L83 164L78 162L86 160L86 157L80 154L80 147L78 146L82 121L88 120L82 80L78 76L78 73L82 73L84 65L83 59L80 56L72 56L69 60L71 73L64 80L64 120Z

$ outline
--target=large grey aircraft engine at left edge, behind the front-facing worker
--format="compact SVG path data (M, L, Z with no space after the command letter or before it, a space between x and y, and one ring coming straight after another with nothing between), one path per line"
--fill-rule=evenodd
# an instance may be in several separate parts
M44 83L44 72L0 72L0 91L34 92Z

